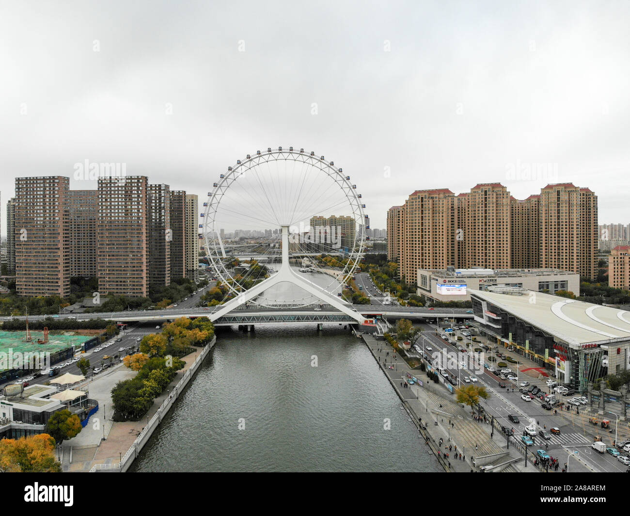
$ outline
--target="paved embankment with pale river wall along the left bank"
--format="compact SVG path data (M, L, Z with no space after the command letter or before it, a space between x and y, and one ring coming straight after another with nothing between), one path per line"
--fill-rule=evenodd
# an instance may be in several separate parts
M97 444L82 445L80 442L71 441L64 443L63 471L127 471L175 400L193 378L203 360L209 355L215 343L216 337L207 346L181 358L185 366L177 372L173 382L164 389L164 392L154 400L141 421L112 421L111 409L110 413L104 411L102 415L96 413L90 418L88 425L81 433L88 429L91 432L96 431L99 435L102 433L105 440L99 437ZM120 370L118 373L132 377L135 375L129 370ZM118 378L112 377L106 389L111 390L118 381L120 381ZM106 416L109 416L109 419ZM101 425L105 425L105 428ZM90 436L84 436L84 439L86 438L89 439Z

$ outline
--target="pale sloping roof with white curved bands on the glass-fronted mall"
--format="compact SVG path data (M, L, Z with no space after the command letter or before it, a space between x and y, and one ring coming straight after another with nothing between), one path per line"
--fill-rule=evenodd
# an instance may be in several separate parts
M489 291L473 291L471 296L574 346L630 340L630 312L626 310L530 290L524 290L521 296Z

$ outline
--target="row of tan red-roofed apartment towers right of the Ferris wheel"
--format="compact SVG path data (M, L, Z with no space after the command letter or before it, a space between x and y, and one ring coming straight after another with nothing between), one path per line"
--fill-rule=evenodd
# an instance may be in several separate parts
M498 183L457 196L418 190L387 213L387 256L402 281L418 269L556 269L597 277L597 196L547 185L520 201Z

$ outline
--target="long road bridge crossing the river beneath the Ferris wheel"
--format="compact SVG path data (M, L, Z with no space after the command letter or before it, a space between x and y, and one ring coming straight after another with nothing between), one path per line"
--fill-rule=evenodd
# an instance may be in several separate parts
M466 308L425 308L425 307L398 307L394 305L347 305L353 311L369 319L370 316L381 315L390 319L435 319L435 317L450 319L472 319L471 310ZM216 307L191 307L191 308L164 308L162 310L138 310L124 312L91 312L89 314L62 314L62 315L29 315L28 320L44 320L47 317L54 319L90 320L103 319L112 322L142 322L178 319L178 317L212 317L221 310L223 305ZM25 316L0 317L0 321L23 320ZM347 313L341 312L330 305L311 305L307 307L239 307L214 319L217 326L243 325L243 324L304 324L314 322L356 324L357 320Z

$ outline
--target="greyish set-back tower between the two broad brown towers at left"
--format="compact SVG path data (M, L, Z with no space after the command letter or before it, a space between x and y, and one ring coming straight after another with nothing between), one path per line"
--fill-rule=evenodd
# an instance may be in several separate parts
M96 277L96 190L69 191L70 276Z

